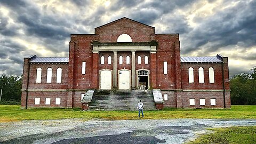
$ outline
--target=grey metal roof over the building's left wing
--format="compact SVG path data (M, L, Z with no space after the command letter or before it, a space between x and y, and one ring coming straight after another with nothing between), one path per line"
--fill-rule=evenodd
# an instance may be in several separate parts
M36 57L29 62L68 62L68 57Z

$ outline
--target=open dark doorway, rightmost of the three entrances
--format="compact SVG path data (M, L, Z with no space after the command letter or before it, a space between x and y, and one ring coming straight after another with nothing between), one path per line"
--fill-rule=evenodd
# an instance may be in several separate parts
M149 70L137 70L137 89L149 89Z

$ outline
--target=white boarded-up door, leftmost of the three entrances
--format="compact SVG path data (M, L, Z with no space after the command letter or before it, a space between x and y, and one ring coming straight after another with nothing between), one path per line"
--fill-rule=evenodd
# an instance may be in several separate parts
M110 90L111 89L111 71L101 70L100 71L100 89Z

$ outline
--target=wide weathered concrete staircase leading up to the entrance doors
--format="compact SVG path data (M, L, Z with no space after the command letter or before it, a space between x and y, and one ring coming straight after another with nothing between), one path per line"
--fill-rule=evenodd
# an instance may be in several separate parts
M145 110L155 110L151 90L95 90L89 109L95 110L137 110L139 101Z

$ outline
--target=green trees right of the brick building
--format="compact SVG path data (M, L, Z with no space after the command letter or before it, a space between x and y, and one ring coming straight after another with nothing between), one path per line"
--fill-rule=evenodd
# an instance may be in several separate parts
M256 105L256 67L230 79L232 105Z

